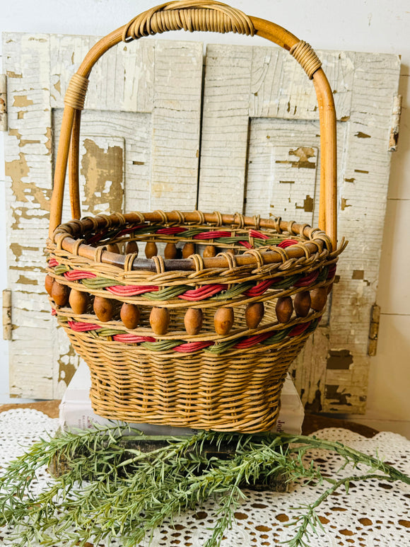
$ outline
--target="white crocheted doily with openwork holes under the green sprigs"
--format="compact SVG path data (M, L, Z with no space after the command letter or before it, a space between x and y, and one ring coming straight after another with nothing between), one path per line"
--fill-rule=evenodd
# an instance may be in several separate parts
M8 410L0 414L0 466L23 453L24 448L45 434L53 434L58 420L48 418L37 410ZM410 441L398 434L382 432L373 439L342 429L316 432L317 437L340 441L348 446L375 455L410 475ZM323 473L334 474L341 466L340 456L327 451L312 451L310 455L320 464ZM365 472L363 467L362 472ZM357 470L346 468L346 476ZM45 469L38 473L35 488L41 489L50 480ZM286 526L298 514L292 507L317 499L323 486L293 485L289 493L247 491L247 500L236 512L236 523L227 531L223 547L273 546L293 537L292 526ZM216 504L207 502L197 513L174 519L154 533L151 547L202 547L211 535ZM404 547L410 546L410 486L372 479L351 484L348 495L344 490L335 493L318 509L324 531L311 535L313 547ZM0 545L13 545L11 532L0 529ZM92 542L92 539L90 539ZM120 540L110 546L121 546ZM60 545L56 543L56 546ZM100 543L99 546L105 545ZM142 544L141 544L142 545ZM148 541L144 542L148 546ZM62 547L62 544L61 544ZM95 546L97 547L97 546Z

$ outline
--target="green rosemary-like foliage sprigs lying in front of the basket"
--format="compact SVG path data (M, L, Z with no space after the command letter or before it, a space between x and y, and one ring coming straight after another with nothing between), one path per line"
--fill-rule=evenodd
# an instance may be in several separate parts
M204 547L218 547L245 498L242 488L268 483L281 473L288 481L329 484L315 503L298 508L302 512L291 523L295 535L288 545L301 547L308 545L310 529L322 526L317 507L337 488L347 490L352 480L373 477L410 484L408 476L378 458L315 437L199 432L168 439L165 446L147 453L127 448L130 441L141 439L153 437L117 426L41 439L0 477L0 525L16 529L15 544L20 547L33 541L44 546L56 541L84 546L88 541L117 537L122 537L124 547L131 547L152 534L164 519L213 497L219 508ZM230 444L233 454L230 459L208 458L205 444L216 449ZM336 451L344 458L344 466L365 465L368 473L339 480L322 476L313 461L308 466L305 463L304 456L312 448ZM37 470L56 462L64 474L50 479L40 494L33 493L30 485Z

